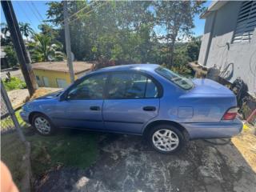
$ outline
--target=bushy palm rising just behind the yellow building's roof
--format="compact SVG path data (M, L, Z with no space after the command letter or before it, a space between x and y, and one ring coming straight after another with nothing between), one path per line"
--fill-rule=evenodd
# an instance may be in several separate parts
M30 42L28 48L34 62L62 61L64 58L62 44L52 43L51 37L46 34L35 34L34 42Z

